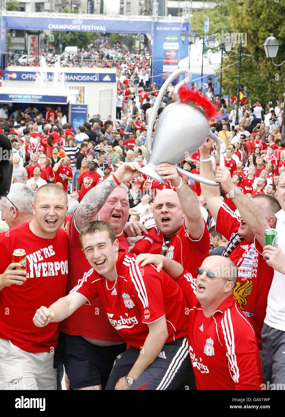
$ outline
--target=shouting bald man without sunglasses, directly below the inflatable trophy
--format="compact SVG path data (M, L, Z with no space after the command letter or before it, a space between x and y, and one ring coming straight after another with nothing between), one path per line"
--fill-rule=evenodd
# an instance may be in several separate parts
M131 250L135 254L163 253L195 275L196 262L209 254L210 236L201 215L197 195L178 175L175 166L160 163L156 171L176 189L160 191L153 203L156 227Z

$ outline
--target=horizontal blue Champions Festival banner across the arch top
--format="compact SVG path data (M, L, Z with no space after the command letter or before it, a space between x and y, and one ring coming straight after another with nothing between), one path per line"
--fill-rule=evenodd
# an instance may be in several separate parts
M151 33L152 22L143 20L96 20L73 18L19 18L4 16L5 27L24 30L66 30L68 32Z

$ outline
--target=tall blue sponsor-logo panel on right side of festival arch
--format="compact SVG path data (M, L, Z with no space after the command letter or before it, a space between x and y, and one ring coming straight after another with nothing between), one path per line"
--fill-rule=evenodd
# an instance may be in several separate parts
M188 56L188 41L184 45L180 34L188 35L189 30L189 23L154 23L152 82L158 88L178 68L178 62Z

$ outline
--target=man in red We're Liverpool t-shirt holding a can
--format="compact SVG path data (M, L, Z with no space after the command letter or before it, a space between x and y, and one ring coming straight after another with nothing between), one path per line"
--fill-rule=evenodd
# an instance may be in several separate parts
M30 223L0 235L0 389L56 389L53 352L59 326L37 329L32 317L39 305L65 295L68 248L60 226L67 198L60 187L47 184L37 190L32 206ZM14 269L20 266L13 263L19 247L26 252L27 273Z

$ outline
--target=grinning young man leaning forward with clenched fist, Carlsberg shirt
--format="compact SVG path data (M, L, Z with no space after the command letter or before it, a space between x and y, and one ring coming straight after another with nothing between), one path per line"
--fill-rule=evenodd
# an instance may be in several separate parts
M115 360L106 389L177 389L190 372L187 306L179 285L152 265L135 265L136 256L119 251L105 222L88 224L80 242L92 269L69 295L38 309L35 325L65 319L100 296L110 324L130 345Z

